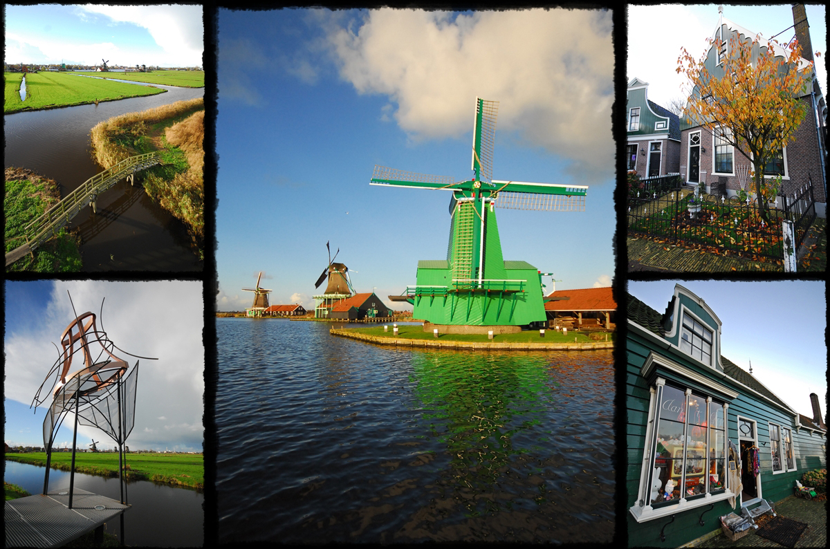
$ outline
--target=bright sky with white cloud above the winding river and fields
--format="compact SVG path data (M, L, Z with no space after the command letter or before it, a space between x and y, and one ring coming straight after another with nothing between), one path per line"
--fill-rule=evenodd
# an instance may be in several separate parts
M6 62L202 66L202 6L9 6Z

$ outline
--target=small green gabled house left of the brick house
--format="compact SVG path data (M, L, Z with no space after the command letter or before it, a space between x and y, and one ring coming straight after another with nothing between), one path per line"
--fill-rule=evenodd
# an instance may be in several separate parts
M641 178L680 172L680 119L648 99L648 83L628 82L626 168Z

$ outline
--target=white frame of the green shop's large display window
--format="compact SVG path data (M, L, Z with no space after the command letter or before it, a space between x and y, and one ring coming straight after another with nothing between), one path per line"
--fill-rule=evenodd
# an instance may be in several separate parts
M654 357L654 355L650 355L650 358ZM654 357L654 360L657 362L671 362L663 357ZM647 362L649 362L647 360ZM676 513L682 513L689 509L699 508L704 505L710 505L715 502L720 502L728 498L734 498L735 493L732 492L732 487L729 485L729 429L728 429L728 418L729 418L729 402L723 403L723 413L724 413L724 479L725 479L725 488L722 493L712 494L708 490L705 494L696 496L694 499L687 499L686 495L681 493L681 498L676 500L676 503L671 503L662 507L652 508L650 502L645 501L645 494L646 489L648 488L649 492L651 491L651 487L647 486L649 479L651 479L651 469L653 469L654 465L654 452L657 449L657 421L659 417L657 415L657 400L658 395L662 395L662 389L666 386L666 379L662 377L657 377L657 380L654 382L652 386L649 387L650 398L649 398L649 405L648 405L648 422L646 428L646 440L645 446L646 448L643 449L642 452L642 468L640 471L640 484L639 489L637 490L637 500L634 501L631 508L628 508L629 513L632 514L637 522L647 522L650 520L654 520L660 517L667 517L669 515L673 515ZM675 386L675 388L677 388ZM683 391L681 389L681 391ZM689 395L691 393L691 389L686 387L685 394ZM700 395L704 396L704 395ZM711 402L711 396L705 395L706 401ZM708 420L707 420L708 421ZM688 425L688 423L686 423ZM710 430L707 429L707 444L710 436ZM706 459L707 467L708 467L708 459ZM684 468L685 469L685 468ZM707 482L708 482L708 474L705 475ZM681 477L681 486L685 486L685 479L686 474L684 473Z

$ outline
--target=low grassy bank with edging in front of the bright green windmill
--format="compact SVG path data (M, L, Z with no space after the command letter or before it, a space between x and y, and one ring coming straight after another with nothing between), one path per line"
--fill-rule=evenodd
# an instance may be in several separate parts
M346 328L349 332L364 333L378 338L405 338L405 339L434 339L432 332L424 332L420 324L406 324L398 326L398 335L393 333L392 324L388 324L388 332L383 331L383 326L371 326L367 328ZM493 339L489 339L486 333L438 333L440 341L461 341L484 343L591 343L594 341L605 341L606 333L593 333L598 339L591 339L589 333L568 331L568 335L557 332L552 328L545 328L544 338L539 335L539 330L525 330L518 333L496 333ZM608 341L614 341L616 333L608 333Z

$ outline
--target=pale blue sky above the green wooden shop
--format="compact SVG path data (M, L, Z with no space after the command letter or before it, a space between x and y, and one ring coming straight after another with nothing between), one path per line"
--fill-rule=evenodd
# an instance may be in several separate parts
M721 354L749 372L793 410L813 417L810 393L827 402L827 300L819 281L629 281L628 293L658 313L680 284L720 318Z

